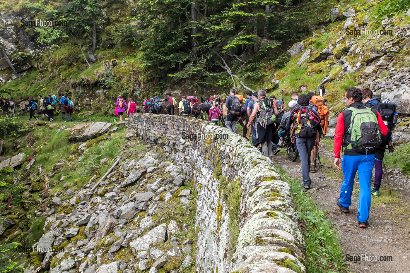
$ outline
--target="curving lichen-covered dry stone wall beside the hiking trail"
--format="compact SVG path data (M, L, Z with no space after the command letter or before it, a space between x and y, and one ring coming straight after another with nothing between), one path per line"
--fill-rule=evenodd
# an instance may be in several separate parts
M127 126L145 141L162 146L167 157L194 177L197 272L306 271L305 242L289 184L280 180L270 159L238 134L207 121L135 113ZM193 137L198 132L203 138ZM216 139L222 134L228 139ZM240 232L234 249L229 249L229 209L214 175L217 165L230 183L239 181L241 187Z

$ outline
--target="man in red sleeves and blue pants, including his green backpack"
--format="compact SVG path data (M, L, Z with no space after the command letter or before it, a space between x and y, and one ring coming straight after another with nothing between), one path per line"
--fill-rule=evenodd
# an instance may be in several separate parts
M376 110L363 105L363 96L360 89L348 87L344 97L349 108L340 112L337 116L334 140L334 164L337 169L342 167L344 177L340 196L336 199L336 205L342 212L349 212L349 207L352 204L353 184L358 172L360 183L358 226L367 227L371 202L370 182L375 159L374 154L376 147L380 143L380 131L381 134L386 135L387 127ZM352 119L358 113L360 113L360 118ZM362 128L367 130L362 130ZM352 138L354 141L351 140ZM342 146L345 148L343 160L340 158L340 148Z

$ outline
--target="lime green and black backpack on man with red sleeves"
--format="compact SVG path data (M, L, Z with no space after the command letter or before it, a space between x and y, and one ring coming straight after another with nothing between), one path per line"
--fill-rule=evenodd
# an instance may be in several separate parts
M352 111L350 123L350 144L346 149L353 149L357 152L374 152L381 143L381 133L377 121L377 116L370 108L356 109L350 107Z

